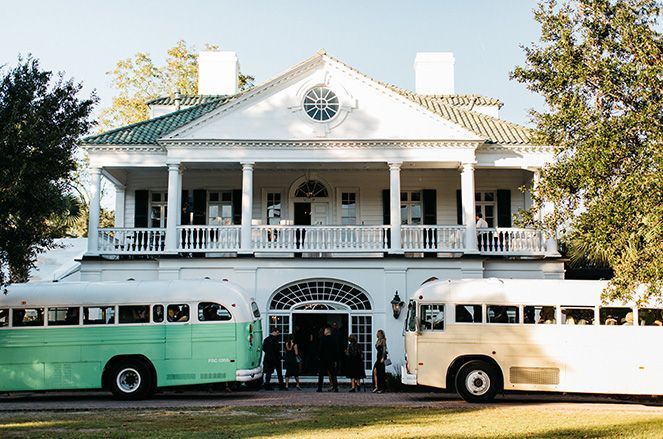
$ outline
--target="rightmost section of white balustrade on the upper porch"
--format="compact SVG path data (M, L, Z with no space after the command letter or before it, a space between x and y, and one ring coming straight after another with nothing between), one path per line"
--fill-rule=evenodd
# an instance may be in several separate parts
M539 256L546 252L540 230L517 228L477 229L479 253L508 256Z

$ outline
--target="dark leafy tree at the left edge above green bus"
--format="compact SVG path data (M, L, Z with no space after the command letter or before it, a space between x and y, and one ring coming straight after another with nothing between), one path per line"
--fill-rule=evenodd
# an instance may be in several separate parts
M70 188L78 138L96 97L32 57L0 76L0 285L24 282L78 209Z

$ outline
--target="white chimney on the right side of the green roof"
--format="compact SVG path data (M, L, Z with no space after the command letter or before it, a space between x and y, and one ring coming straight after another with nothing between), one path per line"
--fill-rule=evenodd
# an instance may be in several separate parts
M419 52L414 58L415 91L422 95L454 94L454 54Z

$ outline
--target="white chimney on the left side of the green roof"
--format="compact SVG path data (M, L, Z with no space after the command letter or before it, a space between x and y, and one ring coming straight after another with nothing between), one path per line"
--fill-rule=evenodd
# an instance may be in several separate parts
M239 61L235 52L205 51L198 54L198 94L237 93Z

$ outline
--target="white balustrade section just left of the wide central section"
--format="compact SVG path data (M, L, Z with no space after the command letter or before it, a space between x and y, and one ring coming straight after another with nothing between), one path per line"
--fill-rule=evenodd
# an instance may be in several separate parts
M236 252L241 226L178 226L178 252Z

